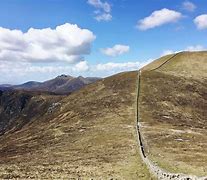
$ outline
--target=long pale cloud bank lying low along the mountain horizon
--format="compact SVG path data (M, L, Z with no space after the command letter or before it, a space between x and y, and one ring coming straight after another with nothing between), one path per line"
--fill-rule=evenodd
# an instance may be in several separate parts
M29 80L45 81L54 78L60 74L69 74L72 76L87 75L106 77L123 71L138 70L152 60L140 62L129 61L124 63L99 63L96 65L88 64L87 61L81 61L73 66L51 65L41 66L39 64L31 64L21 62L14 64L13 62L5 62L0 64L0 84L12 83L20 84ZM12 67L12 68L11 68Z

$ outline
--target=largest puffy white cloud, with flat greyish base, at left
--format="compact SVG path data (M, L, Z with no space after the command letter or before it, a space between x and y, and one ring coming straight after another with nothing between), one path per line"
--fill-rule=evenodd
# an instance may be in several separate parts
M90 53L94 40L91 31L69 23L25 33L0 27L0 61L76 63Z

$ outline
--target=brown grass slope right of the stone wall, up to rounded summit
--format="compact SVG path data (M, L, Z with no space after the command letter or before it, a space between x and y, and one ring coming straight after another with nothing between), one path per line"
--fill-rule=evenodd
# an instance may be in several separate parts
M142 69L139 106L147 155L170 172L206 176L207 52L183 52L163 62Z

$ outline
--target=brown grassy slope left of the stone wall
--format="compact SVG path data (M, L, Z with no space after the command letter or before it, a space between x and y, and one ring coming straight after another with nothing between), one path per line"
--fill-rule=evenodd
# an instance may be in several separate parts
M0 137L0 178L150 179L138 153L137 72L72 93L20 131Z

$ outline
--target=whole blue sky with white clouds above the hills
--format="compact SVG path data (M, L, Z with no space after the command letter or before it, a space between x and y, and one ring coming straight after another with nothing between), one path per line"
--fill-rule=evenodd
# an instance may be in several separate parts
M0 84L107 77L206 38L206 0L1 0Z

